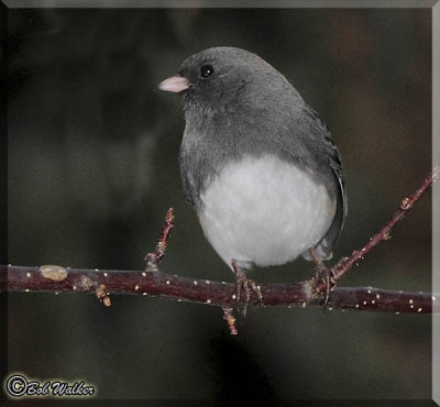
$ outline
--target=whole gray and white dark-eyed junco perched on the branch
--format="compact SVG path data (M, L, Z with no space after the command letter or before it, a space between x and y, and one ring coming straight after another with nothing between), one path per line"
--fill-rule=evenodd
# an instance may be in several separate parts
M239 293L258 292L244 274L253 264L331 257L346 215L341 157L282 74L221 46L188 57L160 88L184 97L185 194Z

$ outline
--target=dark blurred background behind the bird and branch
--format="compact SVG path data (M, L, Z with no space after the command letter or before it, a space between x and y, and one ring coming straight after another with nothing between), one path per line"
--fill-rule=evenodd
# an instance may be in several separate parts
M9 10L9 262L140 270L168 209L162 270L233 280L185 202L177 96L157 84L215 45L255 52L330 127L360 248L431 167L429 9ZM298 260L260 283L312 273ZM430 290L424 198L343 286ZM251 309L230 337L213 307L165 298L11 294L9 371L84 378L102 398L431 397L431 318Z

